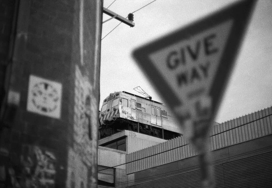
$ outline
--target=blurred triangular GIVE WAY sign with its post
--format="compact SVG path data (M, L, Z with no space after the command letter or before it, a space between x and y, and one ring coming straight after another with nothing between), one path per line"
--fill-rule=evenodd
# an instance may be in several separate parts
M213 186L209 127L253 5L232 5L133 53L198 150L203 187Z

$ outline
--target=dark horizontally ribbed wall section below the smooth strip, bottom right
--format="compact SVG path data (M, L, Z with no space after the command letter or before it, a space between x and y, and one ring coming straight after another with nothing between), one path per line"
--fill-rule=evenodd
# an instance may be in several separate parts
M214 165L215 187L271 187L272 151ZM192 170L130 187L200 187L200 170Z

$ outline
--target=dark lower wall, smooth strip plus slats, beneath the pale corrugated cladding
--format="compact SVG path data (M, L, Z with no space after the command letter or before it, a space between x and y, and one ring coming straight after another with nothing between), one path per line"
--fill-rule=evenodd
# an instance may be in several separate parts
M214 150L212 156L215 187L272 185L272 135ZM200 187L198 156L135 172L134 178L130 187Z

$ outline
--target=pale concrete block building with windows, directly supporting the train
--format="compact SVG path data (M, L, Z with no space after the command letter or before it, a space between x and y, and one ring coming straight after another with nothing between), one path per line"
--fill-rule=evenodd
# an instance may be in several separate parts
M166 142L161 138L141 134L129 130L123 130L109 137L98 141L98 185L126 187L129 176L126 174L126 156L138 150ZM118 166L120 165L120 166ZM114 175L107 174L103 167L115 167L112 172ZM105 169L104 168L104 169ZM106 174L104 174L106 173ZM121 185L122 184L122 185ZM101 186L103 185L103 186ZM115 186L116 187L116 186Z

